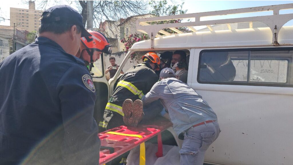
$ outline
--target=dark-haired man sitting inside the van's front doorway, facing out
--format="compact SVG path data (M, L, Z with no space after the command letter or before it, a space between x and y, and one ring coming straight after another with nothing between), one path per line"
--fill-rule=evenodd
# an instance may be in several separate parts
M172 56L171 68L174 70L176 78L183 83L187 83L188 71L185 70L186 53L182 50L176 50Z

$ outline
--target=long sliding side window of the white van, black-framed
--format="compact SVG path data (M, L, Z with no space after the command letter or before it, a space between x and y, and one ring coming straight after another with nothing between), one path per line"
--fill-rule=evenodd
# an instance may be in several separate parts
M239 51L238 51L239 50ZM292 86L293 50L203 50L197 81L209 84Z

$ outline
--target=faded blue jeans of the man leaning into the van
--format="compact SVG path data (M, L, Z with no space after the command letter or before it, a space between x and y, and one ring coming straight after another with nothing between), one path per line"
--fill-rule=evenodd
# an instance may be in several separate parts
M183 132L184 140L180 149L180 165L202 165L205 151L219 136L217 121L191 127Z

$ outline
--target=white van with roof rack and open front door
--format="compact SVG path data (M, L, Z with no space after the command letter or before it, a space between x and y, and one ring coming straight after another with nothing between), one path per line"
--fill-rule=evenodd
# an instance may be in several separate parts
M293 26L283 25L293 19L293 14L279 14L282 9L292 8L293 4L285 4L138 19L137 30L148 33L151 39L132 46L120 65L122 67L110 79L110 85L103 74L94 78L96 108L105 108L108 98L104 96L113 92L114 83L131 53L184 50L190 55L188 85L216 112L221 128L219 138L205 154L205 162L292 165ZM272 11L272 15L200 21L203 16L255 11ZM195 18L195 21L149 24L181 18ZM229 27L229 23L253 21L261 21L268 27L230 27L229 30L204 32L196 32L193 28L208 25L212 30L209 25L227 24ZM164 34L163 28L173 30L176 27L188 27L195 32L154 38L159 31ZM97 112L96 118L100 119L102 112Z

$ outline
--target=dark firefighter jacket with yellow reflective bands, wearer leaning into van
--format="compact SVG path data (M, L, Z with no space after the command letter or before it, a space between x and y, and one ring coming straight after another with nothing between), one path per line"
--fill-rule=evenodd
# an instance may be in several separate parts
M126 99L140 100L157 81L158 76L151 69L149 63L144 62L133 66L118 80L117 86L106 105L106 110L124 116L122 112L123 102Z

